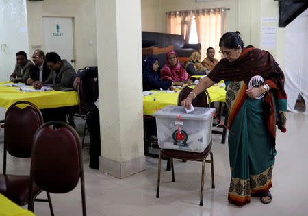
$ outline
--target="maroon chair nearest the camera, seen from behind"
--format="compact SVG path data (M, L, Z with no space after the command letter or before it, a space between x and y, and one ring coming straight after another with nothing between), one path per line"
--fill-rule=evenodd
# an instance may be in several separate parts
M53 130L51 125L57 125ZM49 121L38 128L32 144L30 182L50 193L68 193L81 178L82 214L86 215L84 166L80 138L73 127L62 121ZM30 184L29 206L34 197ZM52 208L52 206L51 206ZM53 213L52 213L53 215Z

